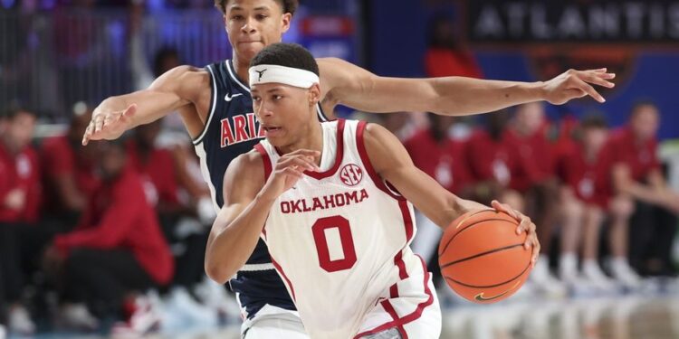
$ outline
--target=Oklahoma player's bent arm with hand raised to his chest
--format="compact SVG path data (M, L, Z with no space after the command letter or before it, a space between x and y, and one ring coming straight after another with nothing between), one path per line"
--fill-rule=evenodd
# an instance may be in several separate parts
M250 152L235 158L226 169L224 207L207 239L206 273L220 284L245 265L253 254L273 202L301 178L318 171L319 152L299 150L279 158L264 183L262 156Z

